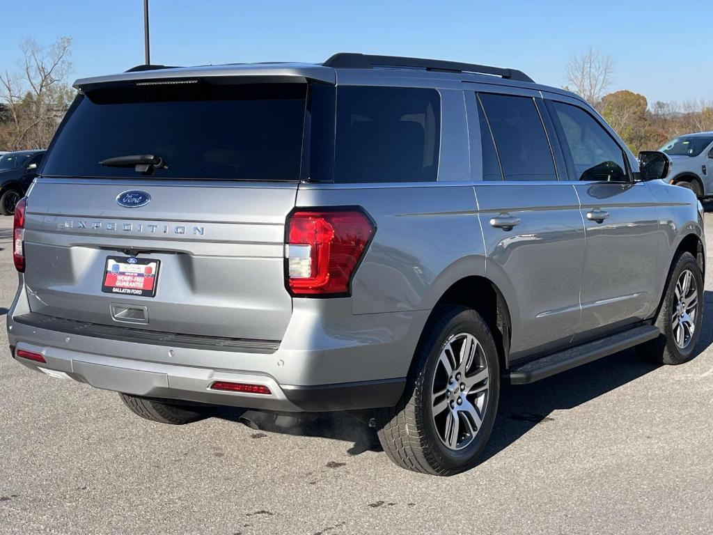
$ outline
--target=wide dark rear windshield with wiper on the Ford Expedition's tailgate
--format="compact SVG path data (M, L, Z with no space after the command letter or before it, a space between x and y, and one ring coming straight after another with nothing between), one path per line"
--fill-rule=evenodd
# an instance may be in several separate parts
M43 175L140 178L106 158L153 155L152 178L299 180L307 83L191 81L79 96Z

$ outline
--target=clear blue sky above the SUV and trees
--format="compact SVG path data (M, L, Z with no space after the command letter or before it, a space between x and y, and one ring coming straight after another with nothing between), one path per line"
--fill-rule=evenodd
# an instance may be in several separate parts
M72 36L73 78L143 63L142 0L6 0L0 69L23 36ZM633 4L640 4L635 6ZM615 59L612 90L713 100L709 1L150 0L152 63L323 61L336 51L520 68L565 83L589 46Z

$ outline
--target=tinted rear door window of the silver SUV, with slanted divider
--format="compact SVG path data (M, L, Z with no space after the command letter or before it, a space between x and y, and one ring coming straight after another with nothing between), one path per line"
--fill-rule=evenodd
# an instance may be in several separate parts
M505 180L557 180L550 143L532 98L481 93Z

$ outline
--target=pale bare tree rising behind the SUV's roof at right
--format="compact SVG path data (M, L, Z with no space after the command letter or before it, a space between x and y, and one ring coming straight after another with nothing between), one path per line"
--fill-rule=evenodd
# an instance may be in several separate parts
M584 54L573 56L567 65L565 78L571 91L578 93L592 106L597 106L612 83L614 60L591 46Z

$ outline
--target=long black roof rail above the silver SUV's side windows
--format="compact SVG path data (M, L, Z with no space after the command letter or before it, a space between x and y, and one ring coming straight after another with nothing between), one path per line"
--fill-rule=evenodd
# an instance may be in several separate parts
M440 59L371 56L369 54L340 52L339 54L334 54L334 56L322 63L322 65L332 68L423 68L426 71L491 74L493 76L501 76L501 78L508 80L534 83L534 80L530 78L530 76L514 68L490 67L487 65L476 65L476 63L458 63L456 61L442 61Z

